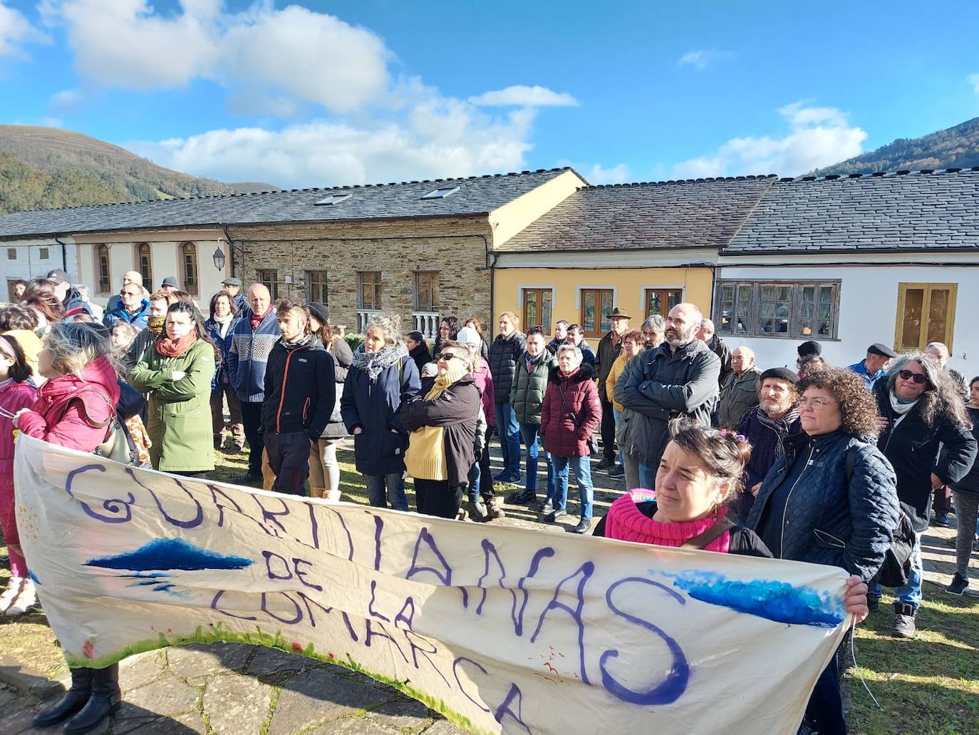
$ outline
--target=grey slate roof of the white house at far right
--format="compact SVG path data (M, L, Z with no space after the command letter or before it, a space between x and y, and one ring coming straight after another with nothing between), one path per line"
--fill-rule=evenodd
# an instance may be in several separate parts
M979 167L774 181L723 255L979 249Z

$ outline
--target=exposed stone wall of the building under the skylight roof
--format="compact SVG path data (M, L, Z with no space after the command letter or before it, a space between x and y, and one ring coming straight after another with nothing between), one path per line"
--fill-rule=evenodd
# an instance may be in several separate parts
M381 308L412 329L414 272L438 270L442 316L489 324L486 217L235 226L235 275L246 287L277 271L280 298L306 300L306 271L327 271L330 320L357 328L357 271L381 271ZM292 276L292 283L286 276Z

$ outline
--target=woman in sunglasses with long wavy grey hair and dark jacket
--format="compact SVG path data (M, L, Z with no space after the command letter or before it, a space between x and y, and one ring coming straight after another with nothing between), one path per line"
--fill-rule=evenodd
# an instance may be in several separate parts
M969 431L961 388L931 355L915 353L894 360L873 392L881 416L877 446L897 472L898 499L914 529L911 573L908 584L895 590L894 603L895 631L913 638L914 615L921 603L921 533L928 528L932 491L968 473L976 440ZM870 593L872 610L880 586Z

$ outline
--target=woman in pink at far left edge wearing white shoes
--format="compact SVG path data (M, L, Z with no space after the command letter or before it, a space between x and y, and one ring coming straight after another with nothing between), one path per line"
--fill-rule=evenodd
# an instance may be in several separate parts
M30 365L20 343L0 334L0 527L3 528L10 581L0 595L0 615L23 615L37 610L37 592L23 561L14 515L14 423L22 409L34 403L37 389L28 381Z

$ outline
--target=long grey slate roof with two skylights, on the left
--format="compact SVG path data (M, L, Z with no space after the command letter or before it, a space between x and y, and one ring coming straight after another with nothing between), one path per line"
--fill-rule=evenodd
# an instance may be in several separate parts
M16 212L0 219L0 239L224 224L480 215L567 171L571 169ZM421 198L442 186L458 186L459 190L444 199ZM351 196L338 204L315 205L330 194Z

